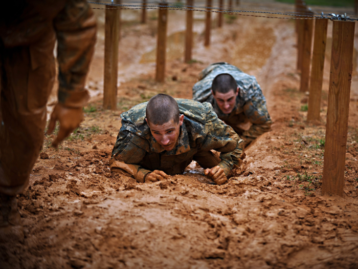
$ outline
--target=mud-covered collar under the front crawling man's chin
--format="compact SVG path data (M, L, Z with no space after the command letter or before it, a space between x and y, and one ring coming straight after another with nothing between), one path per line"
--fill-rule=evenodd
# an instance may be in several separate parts
M161 146L161 144L158 143L152 135L150 135L149 143L150 143L150 150L152 152L160 153L165 151L165 149ZM185 122L183 122L183 125L180 128L180 135L176 140L174 149L165 152L165 155L177 155L188 151L190 151L189 136L188 136L187 128L185 126Z

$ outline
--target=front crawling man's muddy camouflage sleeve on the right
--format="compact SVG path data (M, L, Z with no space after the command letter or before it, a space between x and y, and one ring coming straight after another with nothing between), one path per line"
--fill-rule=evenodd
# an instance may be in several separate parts
M200 150L216 150L220 152L221 161L219 167L228 175L234 168L234 165L239 165L240 160L245 157L244 141L230 126L223 123L217 117L211 104L204 102L203 105L207 108L205 123L205 133L207 136Z

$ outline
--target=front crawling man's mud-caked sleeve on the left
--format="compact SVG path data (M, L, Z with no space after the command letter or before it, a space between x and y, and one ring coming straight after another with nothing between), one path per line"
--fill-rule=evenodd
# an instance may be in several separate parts
M149 145L146 139L133 134L131 129L131 123L122 118L122 127L109 163L110 171L132 177L138 182L144 182L145 176L152 171L142 168L138 163L146 155L145 148Z

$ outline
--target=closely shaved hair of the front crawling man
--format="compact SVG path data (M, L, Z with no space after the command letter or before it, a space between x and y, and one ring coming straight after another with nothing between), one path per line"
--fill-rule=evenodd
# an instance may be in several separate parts
M155 125L163 125L171 119L174 120L174 123L178 123L180 117L179 107L175 99L163 93L150 98L145 114L147 120Z

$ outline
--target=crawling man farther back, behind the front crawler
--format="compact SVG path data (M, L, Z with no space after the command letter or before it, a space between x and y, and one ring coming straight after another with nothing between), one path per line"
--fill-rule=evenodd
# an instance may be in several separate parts
M248 146L270 130L272 121L256 78L227 63L211 64L199 75L193 99L210 102L219 119Z

